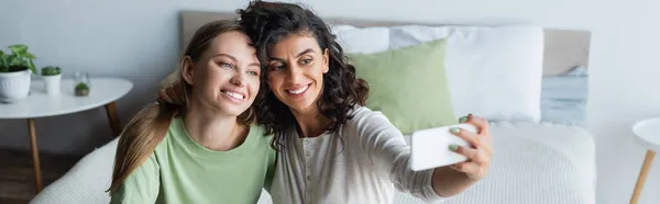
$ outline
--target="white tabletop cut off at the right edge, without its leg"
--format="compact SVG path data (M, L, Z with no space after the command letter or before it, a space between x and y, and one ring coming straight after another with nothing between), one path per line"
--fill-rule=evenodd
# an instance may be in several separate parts
M660 151L660 117L648 118L632 125L635 141L639 145Z

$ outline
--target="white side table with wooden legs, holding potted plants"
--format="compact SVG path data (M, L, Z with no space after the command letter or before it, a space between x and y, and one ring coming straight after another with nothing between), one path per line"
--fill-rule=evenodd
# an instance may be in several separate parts
M114 101L125 95L133 88L133 83L124 79L91 78L89 94L86 97L76 97L73 79L63 79L61 86L62 92L58 95L47 95L44 82L33 80L28 98L14 103L0 103L0 118L28 121L36 193L41 192L43 186L34 120L105 106L108 120L110 121L112 136L117 137L121 133L121 127Z

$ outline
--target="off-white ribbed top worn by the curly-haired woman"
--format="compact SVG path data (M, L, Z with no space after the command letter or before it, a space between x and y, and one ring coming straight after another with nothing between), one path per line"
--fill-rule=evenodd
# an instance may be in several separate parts
M287 135L277 155L273 203L387 204L395 189L427 202L444 200L432 189L432 169L410 170L410 147L387 117L364 106L353 114L336 134Z

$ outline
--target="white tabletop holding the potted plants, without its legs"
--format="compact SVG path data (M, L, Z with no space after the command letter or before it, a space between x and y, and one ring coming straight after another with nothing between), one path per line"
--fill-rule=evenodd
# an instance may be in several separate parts
M73 79L62 79L59 95L46 95L44 86L42 80L33 80L28 98L14 103L0 103L0 118L35 118L81 112L113 102L133 88L133 83L125 79L91 78L89 94L76 97Z

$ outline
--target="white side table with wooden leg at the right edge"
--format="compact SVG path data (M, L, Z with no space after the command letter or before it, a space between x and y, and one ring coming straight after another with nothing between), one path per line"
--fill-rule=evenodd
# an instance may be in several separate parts
M651 162L656 157L656 152L660 150L660 117L648 118L635 123L632 125L632 133L635 133L635 141L647 149L641 170L639 171L639 178L637 178L637 184L630 197L630 204L637 204L639 195L641 194L641 188L646 182L646 178L651 168Z

